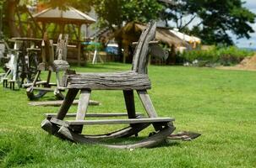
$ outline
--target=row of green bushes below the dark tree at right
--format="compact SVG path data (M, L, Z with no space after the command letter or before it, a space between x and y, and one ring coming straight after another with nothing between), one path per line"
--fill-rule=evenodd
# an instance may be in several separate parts
M235 46L213 47L210 50L188 50L182 53L184 61L192 63L194 60L199 61L199 66L221 64L231 66L239 63L246 56L253 55L253 51L241 50Z

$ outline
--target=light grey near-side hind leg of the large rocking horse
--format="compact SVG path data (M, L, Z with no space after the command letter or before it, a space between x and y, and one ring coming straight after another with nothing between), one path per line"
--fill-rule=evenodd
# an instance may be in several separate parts
M76 120L83 120L90 101L90 90L81 90Z

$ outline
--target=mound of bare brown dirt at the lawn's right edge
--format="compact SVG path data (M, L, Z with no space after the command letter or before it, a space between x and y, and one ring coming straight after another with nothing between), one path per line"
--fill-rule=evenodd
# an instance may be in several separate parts
M244 58L237 66L218 66L216 68L221 70L256 71L256 54L252 57Z

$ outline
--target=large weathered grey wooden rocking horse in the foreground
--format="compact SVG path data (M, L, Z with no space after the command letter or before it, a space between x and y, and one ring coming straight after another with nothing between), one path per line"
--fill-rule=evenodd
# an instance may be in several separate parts
M150 23L140 35L139 42L133 55L132 71L114 73L84 73L68 75L68 93L57 114L47 113L46 119L41 123L41 128L49 134L77 143L102 144L107 147L119 149L133 149L139 147L153 147L166 140L175 127L174 118L159 118L147 92L150 89L150 79L147 75L150 41L155 39L156 24ZM121 90L123 91L127 113L86 113L90 94L93 90ZM142 117L135 112L133 91L139 94L148 117ZM79 107L77 113L68 113L74 98L80 91ZM88 118L120 117L125 119L97 119ZM75 117L74 121L63 120ZM129 126L107 134L87 135L82 134L84 125L95 124L128 124ZM103 139L114 139L138 135L138 133L152 124L155 133L134 144L106 144Z

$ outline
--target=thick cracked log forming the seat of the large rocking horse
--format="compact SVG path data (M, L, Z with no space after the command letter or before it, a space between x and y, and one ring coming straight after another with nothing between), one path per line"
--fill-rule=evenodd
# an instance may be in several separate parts
M68 75L67 80L68 89L144 90L151 88L149 76L135 71L75 74Z

